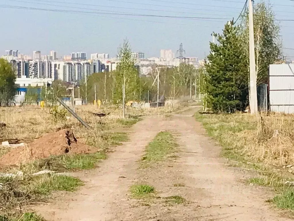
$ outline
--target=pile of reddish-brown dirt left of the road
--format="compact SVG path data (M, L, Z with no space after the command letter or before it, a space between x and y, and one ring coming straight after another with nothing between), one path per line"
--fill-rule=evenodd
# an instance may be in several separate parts
M31 144L26 144L24 147L11 149L7 154L0 157L0 166L20 165L36 159L47 158L51 155L87 154L98 151L97 148L88 146L81 140L78 140L77 143L71 143L69 148L68 139L66 138L67 131L64 129L49 133Z

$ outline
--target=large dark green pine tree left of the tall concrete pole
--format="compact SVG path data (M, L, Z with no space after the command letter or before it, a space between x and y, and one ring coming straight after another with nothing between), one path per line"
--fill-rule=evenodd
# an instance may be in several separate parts
M223 34L215 34L218 44L211 43L205 64L208 101L214 112L244 111L248 101L248 68L240 27L228 22Z

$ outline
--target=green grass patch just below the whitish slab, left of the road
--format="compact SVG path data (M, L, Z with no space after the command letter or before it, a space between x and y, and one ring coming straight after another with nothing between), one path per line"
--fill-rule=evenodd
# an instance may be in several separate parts
M36 177L31 185L35 194L47 195L57 190L73 192L82 186L83 182L76 177L48 174Z

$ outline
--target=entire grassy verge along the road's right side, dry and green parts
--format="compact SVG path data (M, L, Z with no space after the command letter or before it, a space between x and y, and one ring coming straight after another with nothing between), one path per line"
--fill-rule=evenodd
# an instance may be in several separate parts
M230 160L231 166L257 171L258 175L248 183L273 188L277 196L269 201L278 208L294 212L294 182L287 171L287 165L294 164L293 115L272 114L256 118L240 113L196 113L195 118L222 146L222 156Z

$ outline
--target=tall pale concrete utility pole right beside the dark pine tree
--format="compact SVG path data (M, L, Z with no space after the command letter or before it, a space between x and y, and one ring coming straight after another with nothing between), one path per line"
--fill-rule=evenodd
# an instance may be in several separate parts
M253 8L252 1L249 0L249 56L250 56L250 113L258 115L257 106L257 88L256 88L256 70L255 70L255 50L254 50L254 29L253 29Z

